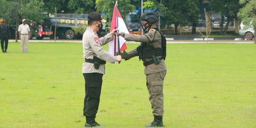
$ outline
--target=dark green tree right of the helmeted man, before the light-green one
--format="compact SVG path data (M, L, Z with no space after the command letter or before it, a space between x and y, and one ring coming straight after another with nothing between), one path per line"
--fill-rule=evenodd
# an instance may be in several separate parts
M230 21L237 18L237 13L241 8L239 0L211 0L209 6L212 10L221 13L220 34L226 35ZM227 24L223 31L224 16L227 17Z

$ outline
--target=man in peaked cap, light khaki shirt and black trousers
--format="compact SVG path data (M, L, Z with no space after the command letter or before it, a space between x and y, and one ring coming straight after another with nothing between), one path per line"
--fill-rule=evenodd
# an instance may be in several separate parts
M105 73L106 61L121 61L121 56L110 55L102 46L114 39L116 29L99 38L97 32L102 29L101 13L91 12L88 15L88 27L82 36L83 57L82 73L85 80L85 97L83 116L86 117L85 127L105 127L95 121L100 104L102 76Z

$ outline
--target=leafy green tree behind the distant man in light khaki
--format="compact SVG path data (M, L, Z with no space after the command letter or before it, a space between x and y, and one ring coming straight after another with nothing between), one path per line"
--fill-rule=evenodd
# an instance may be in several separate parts
M9 21L9 24L16 24L15 39L18 41L17 30L18 25L23 18L30 21L37 22L43 18L42 7L44 5L42 0L4 0L5 1L5 18Z

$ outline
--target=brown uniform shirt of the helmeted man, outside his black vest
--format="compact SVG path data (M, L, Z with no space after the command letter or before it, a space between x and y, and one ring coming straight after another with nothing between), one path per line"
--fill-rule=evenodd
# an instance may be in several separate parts
M161 34L156 31L155 29L150 29L148 33L144 35L136 35L136 34L125 34L124 37L126 40L129 41L136 41L136 42L146 42L146 46L154 46L155 48L162 48L162 37ZM128 52L128 59L138 56L137 48ZM152 58L146 58L146 61L151 60ZM144 61L145 62L145 61ZM149 64L145 66L144 73L151 74L166 71L165 61L162 59L159 64Z

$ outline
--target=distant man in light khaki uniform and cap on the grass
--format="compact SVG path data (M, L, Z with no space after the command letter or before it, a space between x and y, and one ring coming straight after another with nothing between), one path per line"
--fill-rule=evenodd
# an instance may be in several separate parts
M28 52L28 39L30 37L30 28L26 24L26 19L22 19L22 24L18 26L18 35L20 39L21 53L24 53L24 42L25 42L25 53Z

